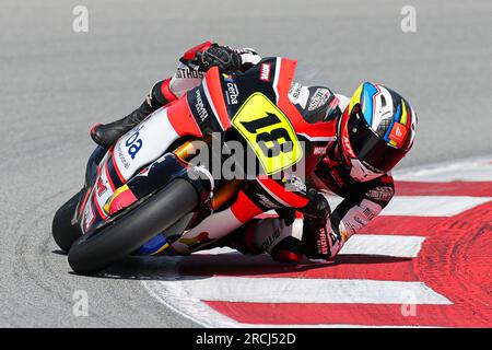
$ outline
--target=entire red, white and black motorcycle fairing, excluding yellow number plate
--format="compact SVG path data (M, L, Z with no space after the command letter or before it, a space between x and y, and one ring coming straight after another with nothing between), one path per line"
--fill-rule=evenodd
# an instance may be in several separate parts
M246 73L233 75L224 74L214 67L206 74L202 84L188 91L186 97L156 110L125 135L115 149L107 152L97 166L95 178L86 185L85 200L81 202L78 220L82 231L93 232L104 224L108 220L102 209L105 199L129 179L145 176L148 168L142 167L159 159L174 141L187 135L200 138L206 132L233 129L231 120L258 90L289 117L297 138L308 141L309 149L304 158L312 158L313 144L326 144L333 140L335 122L311 125L290 102L288 93L296 61L280 57L267 58ZM307 203L304 194L290 191L281 180L267 177L257 183L280 206L300 208ZM144 188L144 191L149 189Z

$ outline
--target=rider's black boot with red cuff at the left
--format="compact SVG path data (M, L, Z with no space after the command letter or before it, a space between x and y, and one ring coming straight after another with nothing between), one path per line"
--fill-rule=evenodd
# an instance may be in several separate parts
M91 138L101 147L108 149L122 135L142 122L148 115L174 100L176 100L176 96L169 90L169 79L160 81L152 86L140 107L119 120L95 125L91 129Z

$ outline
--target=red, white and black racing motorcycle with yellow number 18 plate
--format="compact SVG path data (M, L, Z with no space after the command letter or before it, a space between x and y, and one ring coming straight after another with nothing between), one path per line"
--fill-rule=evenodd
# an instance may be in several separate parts
M318 163L336 126L305 120L290 101L294 78L303 79L297 66L270 57L246 72L213 67L199 86L148 116L109 150L97 147L83 188L52 221L55 242L68 252L73 271L96 273L157 235L167 248L203 218L232 206L241 215L237 226L269 209L304 207L302 186L288 186L286 179L298 183L295 166L308 173ZM194 164L203 144L231 141L253 151L255 176L224 180ZM274 203L265 196L261 205L253 203L244 195L248 186L259 186Z

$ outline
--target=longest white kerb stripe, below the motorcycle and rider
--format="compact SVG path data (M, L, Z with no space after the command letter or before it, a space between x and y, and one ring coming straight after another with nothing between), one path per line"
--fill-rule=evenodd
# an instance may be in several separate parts
M422 282L188 276L160 281L194 300L244 303L452 304ZM177 287L176 284L179 284Z

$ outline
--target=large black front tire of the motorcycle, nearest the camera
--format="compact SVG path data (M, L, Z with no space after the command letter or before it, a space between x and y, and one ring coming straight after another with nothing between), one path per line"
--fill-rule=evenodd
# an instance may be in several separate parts
M107 268L192 211L198 202L195 187L175 179L103 231L80 237L70 248L70 267L80 275Z

